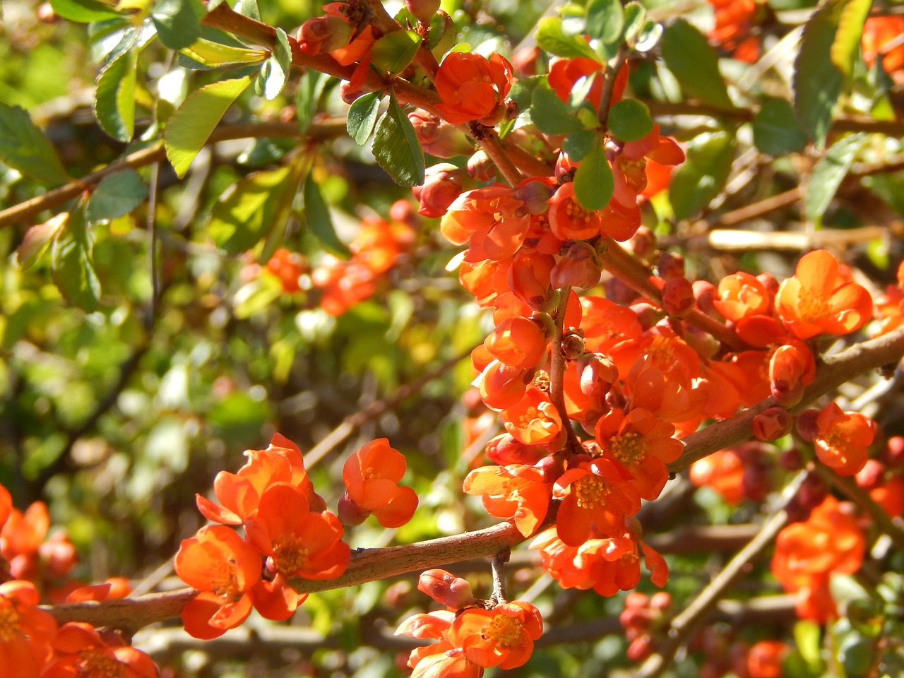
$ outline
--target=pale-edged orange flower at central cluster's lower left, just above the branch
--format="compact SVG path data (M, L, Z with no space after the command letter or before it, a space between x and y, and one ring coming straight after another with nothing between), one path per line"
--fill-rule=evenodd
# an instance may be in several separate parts
M542 471L521 464L476 468L466 476L463 489L482 495L487 513L513 520L525 537L543 522L552 495L552 484Z

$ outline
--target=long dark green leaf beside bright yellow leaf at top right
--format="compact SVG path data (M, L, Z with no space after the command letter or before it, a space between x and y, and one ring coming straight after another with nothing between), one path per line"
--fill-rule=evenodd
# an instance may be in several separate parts
M848 0L827 0L804 26L794 62L794 107L797 119L817 148L825 146L841 95L844 74L832 60L838 23Z

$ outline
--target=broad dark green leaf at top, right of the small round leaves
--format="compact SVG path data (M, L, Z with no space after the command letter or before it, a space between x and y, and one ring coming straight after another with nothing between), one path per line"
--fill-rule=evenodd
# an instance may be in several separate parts
M718 108L734 108L716 52L703 33L678 19L666 27L662 48L665 65L688 97Z

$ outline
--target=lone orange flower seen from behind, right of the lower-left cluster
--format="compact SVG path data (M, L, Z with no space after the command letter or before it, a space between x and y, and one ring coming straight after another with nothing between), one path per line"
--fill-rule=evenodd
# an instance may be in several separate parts
M348 457L342 479L353 508L363 518L373 513L383 527L408 523L418 508L418 494L398 485L405 466L405 456L387 438L372 440Z

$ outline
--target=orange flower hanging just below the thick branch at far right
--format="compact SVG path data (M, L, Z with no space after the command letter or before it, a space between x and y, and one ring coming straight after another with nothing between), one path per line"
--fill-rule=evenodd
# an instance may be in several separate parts
M845 412L830 402L816 417L816 457L840 476L853 476L866 464L876 425L860 412Z

